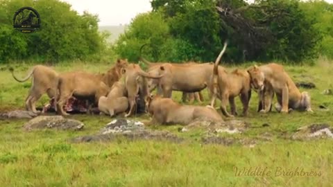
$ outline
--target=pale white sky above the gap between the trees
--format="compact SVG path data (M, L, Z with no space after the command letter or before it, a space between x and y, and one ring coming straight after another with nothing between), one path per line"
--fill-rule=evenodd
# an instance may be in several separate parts
M151 11L151 0L62 0L82 14L84 10L99 15L99 26L130 24L139 13ZM253 1L253 0L249 0ZM325 0L333 3L333 0Z

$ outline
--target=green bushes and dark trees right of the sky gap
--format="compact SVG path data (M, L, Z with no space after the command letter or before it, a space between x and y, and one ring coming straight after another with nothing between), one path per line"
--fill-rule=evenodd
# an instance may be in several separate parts
M138 15L115 51L137 61L139 48L151 61L210 62L225 39L223 60L311 62L333 58L333 5L325 1L153 0Z

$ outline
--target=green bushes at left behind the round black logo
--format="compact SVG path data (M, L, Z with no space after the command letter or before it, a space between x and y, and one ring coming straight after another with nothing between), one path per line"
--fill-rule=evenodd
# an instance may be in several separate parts
M25 6L40 15L41 28L35 33L20 33L12 26L15 11ZM100 60L108 34L99 33L96 15L78 15L70 7L58 0L0 0L0 63Z

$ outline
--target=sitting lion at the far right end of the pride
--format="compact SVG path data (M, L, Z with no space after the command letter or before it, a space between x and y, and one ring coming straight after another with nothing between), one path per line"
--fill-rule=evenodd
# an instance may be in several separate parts
M276 95L278 103L275 108L278 112L288 113L289 109L313 112L311 109L311 98L307 91L302 93L291 80L288 73L280 64L270 63L263 66L252 66L248 69L251 85L254 89L262 91L264 97L263 109L260 112L269 111L273 94ZM261 100L261 102L263 102Z

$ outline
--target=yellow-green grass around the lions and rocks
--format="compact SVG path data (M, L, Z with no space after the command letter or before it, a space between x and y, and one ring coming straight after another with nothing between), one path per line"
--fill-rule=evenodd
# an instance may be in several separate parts
M245 68L250 64L242 66ZM17 74L26 75L31 64L12 64ZM57 71L85 69L106 71L111 64L59 64ZM3 66L0 66L0 68ZM234 69L234 66L230 66ZM238 119L251 125L244 134L219 134L234 139L256 139L254 148L234 144L205 145L200 143L204 132L178 132L180 125L157 126L182 136L184 143L167 141L128 141L110 143L69 143L68 139L95 134L112 119L107 116L74 115L85 123L79 132L39 130L24 132L27 120L0 121L0 184L1 186L331 186L333 179L332 140L291 141L285 139L298 127L311 123L332 125L333 96L321 94L332 89L333 64L319 60L316 66L286 66L293 80L311 80L316 89L309 89L313 114L258 114L257 94L250 100L250 114ZM0 110L23 109L30 82L19 83L9 71L0 71ZM301 89L302 91L305 89ZM205 103L207 105L207 93ZM173 94L180 100L180 93ZM38 105L48 102L44 96ZM198 105L196 103L196 105ZM237 99L237 109L241 104ZM148 116L138 116L137 120ZM262 127L268 123L269 127ZM259 139L268 133L272 141ZM270 175L237 176L237 170L266 168ZM282 175L281 170L284 170ZM299 176L295 170L320 173L320 176ZM249 174L250 175L250 174Z

